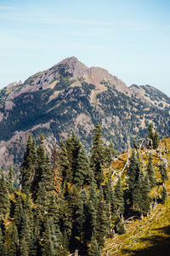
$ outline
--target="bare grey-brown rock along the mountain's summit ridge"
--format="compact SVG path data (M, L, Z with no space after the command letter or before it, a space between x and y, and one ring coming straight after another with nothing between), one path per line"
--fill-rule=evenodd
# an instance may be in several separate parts
M127 85L124 84L121 79L117 79L116 76L109 73L106 69L101 67L87 67L73 56L60 61L48 70L34 74L26 79L23 84L21 81L19 83L15 82L8 84L8 96L6 99L11 101L14 97L20 96L22 93L47 89L50 84L53 85L54 81L59 79L60 67L66 67L67 71L72 74L72 79L83 78L88 84L94 84L97 90L101 89L102 82L106 82L115 86L116 90L125 93L128 96L132 95L132 91ZM103 87L105 90L105 86Z

